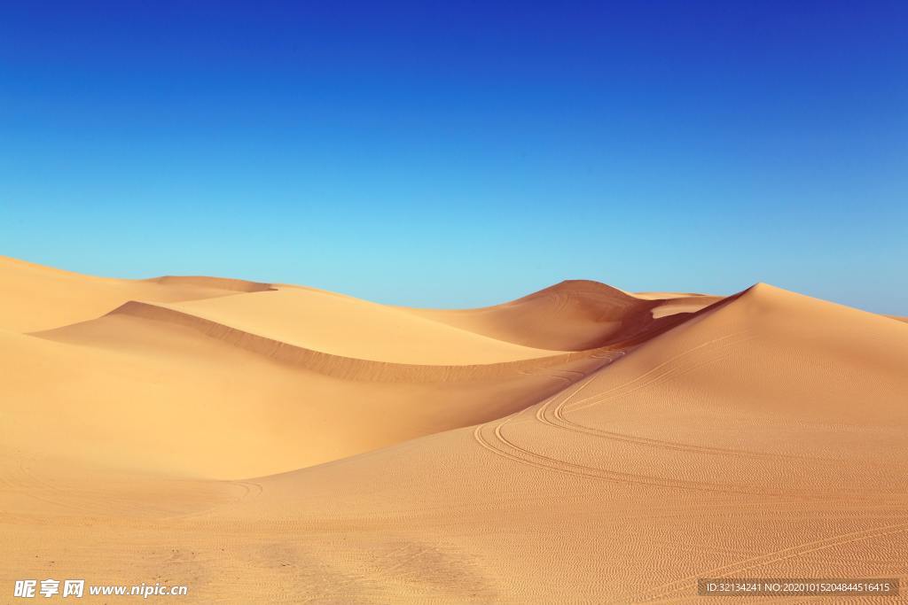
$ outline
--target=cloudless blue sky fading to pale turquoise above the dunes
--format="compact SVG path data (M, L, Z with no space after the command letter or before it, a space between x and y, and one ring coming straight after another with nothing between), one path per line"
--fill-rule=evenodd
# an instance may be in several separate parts
M3 3L0 254L908 315L906 31L901 0Z

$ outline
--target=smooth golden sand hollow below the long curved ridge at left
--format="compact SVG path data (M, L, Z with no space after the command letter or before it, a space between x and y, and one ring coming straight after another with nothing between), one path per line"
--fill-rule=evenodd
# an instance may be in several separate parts
M508 414L609 358L447 367L312 354L297 364L144 317L114 314L73 332L67 341L4 335L15 419L4 443L214 478L278 473Z

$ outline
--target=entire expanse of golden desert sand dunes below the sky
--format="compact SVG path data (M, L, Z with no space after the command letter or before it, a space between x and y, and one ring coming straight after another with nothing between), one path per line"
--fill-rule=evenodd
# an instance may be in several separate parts
M891 317L764 284L454 311L13 259L0 285L5 599L47 577L200 603L908 583Z

